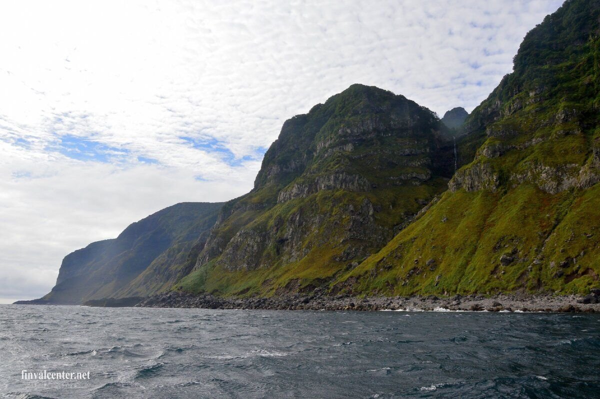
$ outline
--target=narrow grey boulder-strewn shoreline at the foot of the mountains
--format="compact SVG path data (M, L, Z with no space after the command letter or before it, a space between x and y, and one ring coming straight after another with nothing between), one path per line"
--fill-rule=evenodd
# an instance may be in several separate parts
M221 298L208 294L192 295L168 292L143 299L136 307L269 309L269 310L407 310L407 311L522 311L522 312L586 312L600 313L600 289L589 295L525 295L493 296L455 295L412 297L329 296L316 290L310 295L294 294L270 298Z

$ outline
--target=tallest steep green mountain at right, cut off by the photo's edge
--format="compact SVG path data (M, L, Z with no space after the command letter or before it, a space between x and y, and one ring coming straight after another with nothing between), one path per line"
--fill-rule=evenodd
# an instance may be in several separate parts
M334 290L584 293L598 284L599 18L599 1L571 0L527 34L514 72L464 124L464 140L481 143L474 160Z

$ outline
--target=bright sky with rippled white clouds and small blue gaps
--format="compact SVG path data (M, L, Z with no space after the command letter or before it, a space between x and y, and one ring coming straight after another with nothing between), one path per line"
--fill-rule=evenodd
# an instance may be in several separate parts
M470 112L561 3L2 2L0 303L161 208L246 193L283 122L352 83Z

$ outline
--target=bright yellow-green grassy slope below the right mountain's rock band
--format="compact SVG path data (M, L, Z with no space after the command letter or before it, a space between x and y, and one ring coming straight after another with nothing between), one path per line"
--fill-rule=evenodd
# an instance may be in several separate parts
M335 284L386 295L586 293L600 275L599 207L598 184L556 195L528 184L504 195L446 192L416 223ZM514 262L503 265L503 254ZM430 259L434 263L427 265Z

